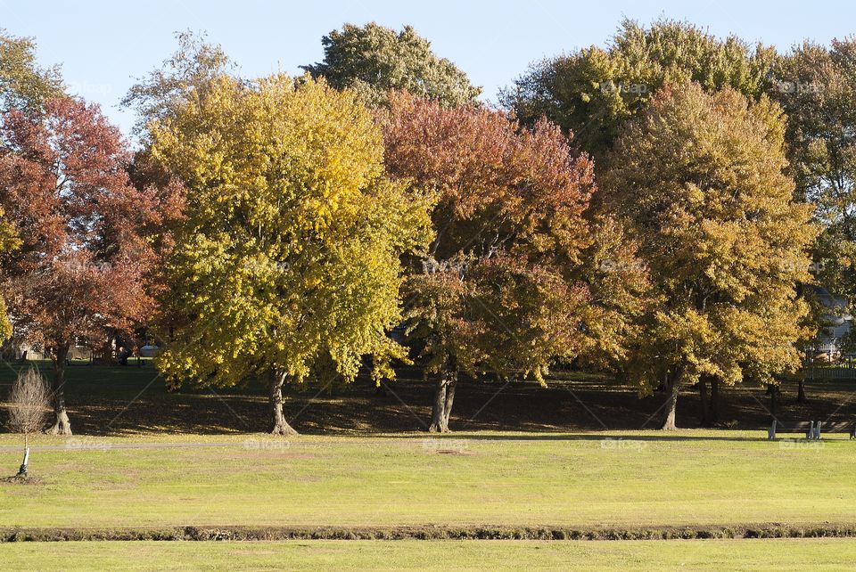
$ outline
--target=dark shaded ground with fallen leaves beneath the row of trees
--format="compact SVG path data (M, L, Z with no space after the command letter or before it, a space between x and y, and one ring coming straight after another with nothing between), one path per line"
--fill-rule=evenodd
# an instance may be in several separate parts
M45 375L49 364L39 364ZM16 366L17 367L17 366ZM151 365L109 367L76 365L68 370L67 402L72 429L78 435L135 434L224 435L265 432L268 403L261 384L245 388L184 388L170 392ZM0 399L14 379L0 368ZM765 440L769 425L768 398L760 388L721 388L720 421L730 429L752 429L754 437L695 436L663 433L638 436L604 431L657 429L665 396L639 399L633 388L603 376L563 374L548 388L535 383L462 380L457 390L449 437L485 440L600 440L627 438L650 441ZM284 414L305 435L376 435L402 433L400 438L425 437L434 386L416 368L401 368L399 380L378 390L366 375L350 385L309 382L285 388ZM856 386L854 386L856 387ZM795 404L796 387L786 385L778 417L786 421L850 421L856 404L849 387L816 384L808 388L809 403ZM4 422L0 404L0 423ZM679 427L699 427L699 400L681 394ZM477 431L525 431L531 435L468 435ZM567 433L577 433L566 435ZM580 433L581 432L581 433ZM536 434L536 435L532 435Z

